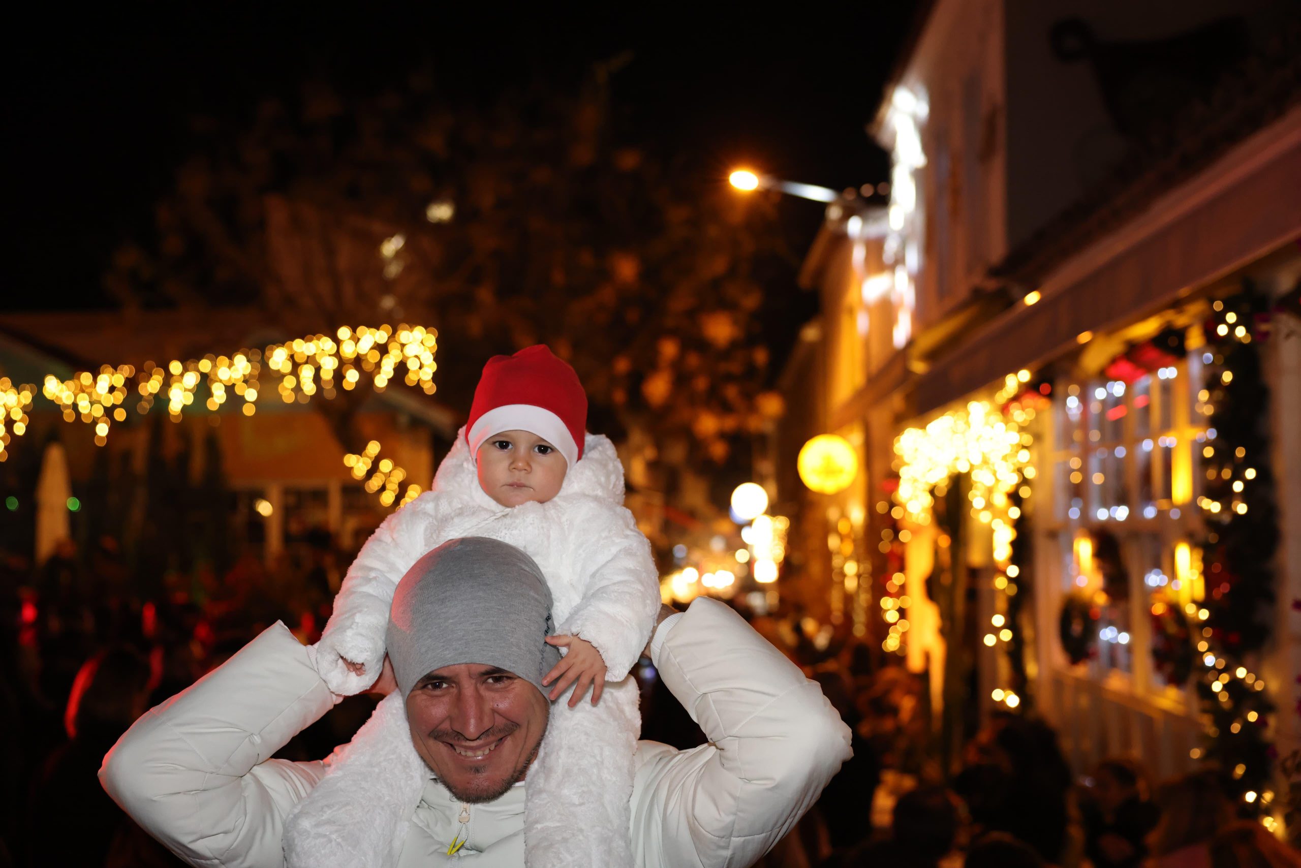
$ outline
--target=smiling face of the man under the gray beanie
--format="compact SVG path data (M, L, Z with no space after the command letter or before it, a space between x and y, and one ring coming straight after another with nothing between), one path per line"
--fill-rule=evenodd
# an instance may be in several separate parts
M476 803L500 798L524 778L550 705L513 673L457 664L418 681L406 711L411 740L425 765L453 796Z

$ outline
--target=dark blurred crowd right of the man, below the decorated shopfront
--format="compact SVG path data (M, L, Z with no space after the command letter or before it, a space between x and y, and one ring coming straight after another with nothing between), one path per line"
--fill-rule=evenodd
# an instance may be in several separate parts
M1077 774L1051 725L1007 711L946 761L929 688L898 657L852 643L818 651L799 612L775 629L764 621L755 626L821 683L855 753L764 868L1301 868L1237 816L1218 769L1154 782L1138 759L1110 757Z

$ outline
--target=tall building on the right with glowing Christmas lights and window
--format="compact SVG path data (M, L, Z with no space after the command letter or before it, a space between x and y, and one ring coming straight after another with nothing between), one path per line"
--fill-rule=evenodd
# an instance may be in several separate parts
M863 472L782 496L827 617L928 675L948 756L1033 707L1079 772L1215 753L1280 821L1258 748L1301 747L1296 46L1271 3L920 16L873 124L890 199L833 203L801 273L820 400L787 440L842 435Z

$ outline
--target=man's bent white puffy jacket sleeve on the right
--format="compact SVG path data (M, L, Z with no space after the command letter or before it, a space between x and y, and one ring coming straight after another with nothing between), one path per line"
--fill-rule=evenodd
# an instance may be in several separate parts
M850 759L850 727L814 682L716 600L692 603L653 662L708 744L639 746L636 864L751 865Z

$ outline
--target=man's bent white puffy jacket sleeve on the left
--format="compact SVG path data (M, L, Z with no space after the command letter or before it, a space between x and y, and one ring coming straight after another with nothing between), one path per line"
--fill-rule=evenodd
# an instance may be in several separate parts
M135 721L104 757L100 783L191 865L281 865L285 815L324 765L271 756L333 701L307 648L277 622Z

